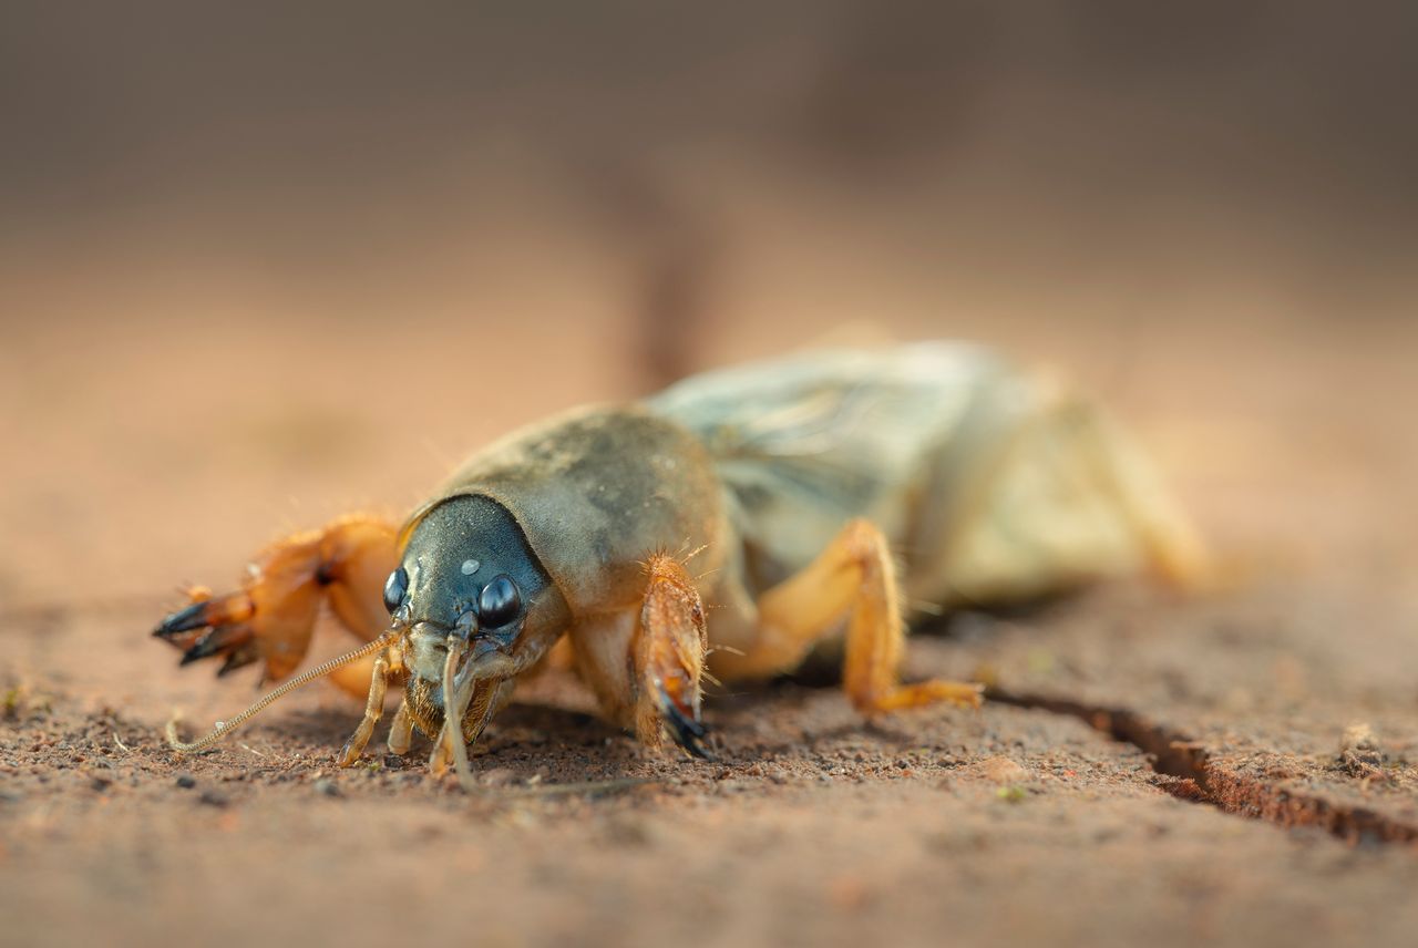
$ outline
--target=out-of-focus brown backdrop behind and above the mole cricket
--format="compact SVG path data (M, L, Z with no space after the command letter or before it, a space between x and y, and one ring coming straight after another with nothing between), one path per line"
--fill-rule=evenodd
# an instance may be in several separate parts
M1411 4L0 17L11 605L223 584L539 415L873 334L1066 367L1221 543L1411 588Z

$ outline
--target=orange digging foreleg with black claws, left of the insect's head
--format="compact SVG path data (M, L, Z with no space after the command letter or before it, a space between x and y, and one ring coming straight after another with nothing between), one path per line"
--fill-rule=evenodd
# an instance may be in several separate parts
M193 604L162 621L153 635L183 650L182 663L221 656L217 675L264 663L264 679L296 669L311 645L322 598L352 633L373 641L389 626L383 588L397 565L396 527L366 516L342 517L264 550L235 592L191 592ZM340 669L342 687L363 694L369 662Z

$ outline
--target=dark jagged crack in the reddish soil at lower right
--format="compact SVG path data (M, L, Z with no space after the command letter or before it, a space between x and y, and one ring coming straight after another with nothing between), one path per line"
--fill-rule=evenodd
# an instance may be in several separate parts
M1001 704L1068 714L1116 741L1132 744L1149 757L1154 771L1177 778L1167 789L1181 799L1210 803L1224 813L1282 828L1314 826L1349 843L1418 845L1418 826L1412 823L1217 767L1200 743L1137 711L1005 689L990 689L986 697Z

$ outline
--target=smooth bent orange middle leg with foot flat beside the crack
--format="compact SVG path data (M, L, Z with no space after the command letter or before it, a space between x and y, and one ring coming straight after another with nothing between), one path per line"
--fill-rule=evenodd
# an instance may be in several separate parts
M752 648L715 652L713 670L725 679L753 679L795 669L844 615L847 662L842 686L864 714L950 701L978 707L980 686L930 680L902 684L906 642L896 567L886 538L868 520L852 520L805 570L759 598L759 631Z

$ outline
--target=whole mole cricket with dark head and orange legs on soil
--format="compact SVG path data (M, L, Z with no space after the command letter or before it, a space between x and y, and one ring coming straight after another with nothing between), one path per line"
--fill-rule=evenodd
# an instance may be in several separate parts
M899 680L908 602L1201 570L1187 520L1099 408L987 349L927 343L713 371L516 431L401 524L347 516L281 540L238 591L196 591L155 635L183 665L259 662L279 680L328 604L364 645L197 741L169 724L170 744L206 748L330 676L367 699L340 765L396 684L390 751L418 730L430 769L467 782L467 745L553 648L611 721L703 757L706 679L783 675L832 638L865 716L977 706L976 684Z

